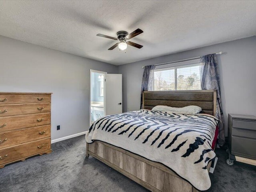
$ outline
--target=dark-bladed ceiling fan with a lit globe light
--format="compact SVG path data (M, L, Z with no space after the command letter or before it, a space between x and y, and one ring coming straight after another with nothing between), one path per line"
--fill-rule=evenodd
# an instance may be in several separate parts
M114 40L119 40L120 41L120 42L114 44L108 50L113 50L117 46L118 46L119 50L126 50L127 45L134 46L134 47L139 48L139 49L143 47L142 45L136 44L134 42L127 41L127 40L129 40L129 39L131 39L131 38L141 34L141 33L143 33L143 31L141 29L136 29L134 32L131 32L130 34L128 34L128 32L126 32L126 31L118 31L116 33L117 38L110 37L110 36L107 36L107 35L102 35L102 34L97 34L97 36L105 37L105 38L109 38L109 39L114 39Z

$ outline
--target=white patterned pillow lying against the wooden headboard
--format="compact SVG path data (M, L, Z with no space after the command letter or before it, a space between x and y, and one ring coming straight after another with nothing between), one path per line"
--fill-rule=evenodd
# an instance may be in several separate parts
M166 105L157 105L152 108L152 111L168 111L172 113L180 113L180 114L198 114L202 111L202 108L190 105L186 107L169 107Z

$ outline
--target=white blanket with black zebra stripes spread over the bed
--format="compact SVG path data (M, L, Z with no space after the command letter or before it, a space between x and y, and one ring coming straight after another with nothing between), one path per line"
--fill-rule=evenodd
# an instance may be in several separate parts
M207 190L217 123L207 114L137 110L99 118L86 132L86 142L100 140L160 162L198 190Z

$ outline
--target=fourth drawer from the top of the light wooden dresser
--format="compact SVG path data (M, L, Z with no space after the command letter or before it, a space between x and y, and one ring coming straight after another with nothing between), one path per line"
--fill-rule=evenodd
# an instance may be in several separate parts
M0 132L0 149L51 136L51 125Z

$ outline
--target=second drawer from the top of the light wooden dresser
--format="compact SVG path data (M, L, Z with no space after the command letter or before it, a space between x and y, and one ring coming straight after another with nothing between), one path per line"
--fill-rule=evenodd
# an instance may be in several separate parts
M50 112L51 103L0 105L0 117L32 113Z

